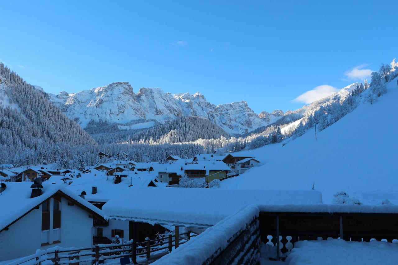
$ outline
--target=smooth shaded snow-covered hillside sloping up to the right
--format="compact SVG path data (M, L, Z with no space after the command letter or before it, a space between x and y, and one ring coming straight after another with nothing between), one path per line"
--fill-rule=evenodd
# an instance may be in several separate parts
M289 142L238 152L256 156L261 166L222 181L222 188L312 189L314 183L324 203L331 203L338 191L365 204L381 204L384 199L398 203L397 78L387 83L387 89L372 105L364 100L371 90L363 92L358 107L317 131L317 140L312 128Z

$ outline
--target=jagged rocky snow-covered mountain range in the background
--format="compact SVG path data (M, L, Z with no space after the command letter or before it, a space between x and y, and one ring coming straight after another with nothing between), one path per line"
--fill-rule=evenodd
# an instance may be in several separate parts
M257 115L246 101L216 106L199 92L172 95L160 88L141 88L134 93L128 82L116 82L73 94L62 91L49 96L50 101L82 127L92 120L123 124L150 119L164 123L182 116L197 116L209 119L230 134L242 134L283 116L282 111L264 111Z

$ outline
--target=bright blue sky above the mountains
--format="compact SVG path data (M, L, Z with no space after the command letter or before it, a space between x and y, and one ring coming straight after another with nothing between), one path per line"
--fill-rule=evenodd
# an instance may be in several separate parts
M54 94L128 81L286 111L397 57L392 5L3 1L0 60Z

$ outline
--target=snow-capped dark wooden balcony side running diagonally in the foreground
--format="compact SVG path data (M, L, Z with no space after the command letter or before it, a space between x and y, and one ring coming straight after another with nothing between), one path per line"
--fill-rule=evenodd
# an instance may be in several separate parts
M153 264L256 264L259 209L245 206Z

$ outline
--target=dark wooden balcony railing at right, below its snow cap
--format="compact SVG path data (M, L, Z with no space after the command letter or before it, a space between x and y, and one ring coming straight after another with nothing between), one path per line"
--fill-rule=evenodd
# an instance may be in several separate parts
M398 239L398 214L360 212L260 212L261 241L277 246L277 259L299 240L347 241ZM279 250L278 250L279 249Z

